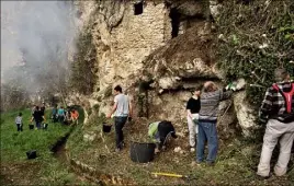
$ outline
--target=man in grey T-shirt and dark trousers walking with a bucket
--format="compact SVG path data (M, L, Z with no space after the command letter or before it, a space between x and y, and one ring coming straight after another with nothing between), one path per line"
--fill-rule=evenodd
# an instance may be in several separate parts
M128 96L123 94L123 90L120 85L114 88L114 105L108 118L111 118L112 114L114 114L116 151L121 151L124 147L123 128L127 117L132 117L132 105Z

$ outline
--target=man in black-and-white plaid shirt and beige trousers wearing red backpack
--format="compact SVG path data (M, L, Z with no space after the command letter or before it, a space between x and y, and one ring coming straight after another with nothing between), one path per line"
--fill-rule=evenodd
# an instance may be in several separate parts
M272 151L280 141L280 155L274 174L286 174L294 140L294 83L285 69L274 71L276 83L267 90L260 107L260 119L267 123L263 146L257 174L263 178L270 176ZM287 118L287 119L286 119Z

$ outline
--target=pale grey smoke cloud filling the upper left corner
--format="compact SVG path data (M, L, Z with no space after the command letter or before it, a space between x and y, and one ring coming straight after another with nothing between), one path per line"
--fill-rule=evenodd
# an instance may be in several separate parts
M33 93L65 80L76 21L72 1L1 1L1 81Z

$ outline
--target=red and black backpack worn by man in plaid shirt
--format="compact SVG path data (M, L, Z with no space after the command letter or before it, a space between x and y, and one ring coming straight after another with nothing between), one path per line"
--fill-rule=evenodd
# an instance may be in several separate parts
M291 123L294 121L294 112L292 108L292 97L294 94L294 83L291 83L291 91L290 92L283 92L278 84L273 84L272 88L276 90L285 100L285 107L286 107L286 113L282 114L276 117L276 119L281 123Z

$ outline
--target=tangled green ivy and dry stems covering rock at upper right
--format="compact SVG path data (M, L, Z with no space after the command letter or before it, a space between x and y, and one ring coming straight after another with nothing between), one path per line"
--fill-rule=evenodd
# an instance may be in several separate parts
M258 106L278 67L294 72L294 1L224 1L217 25L218 67L226 80L245 78L247 96Z

